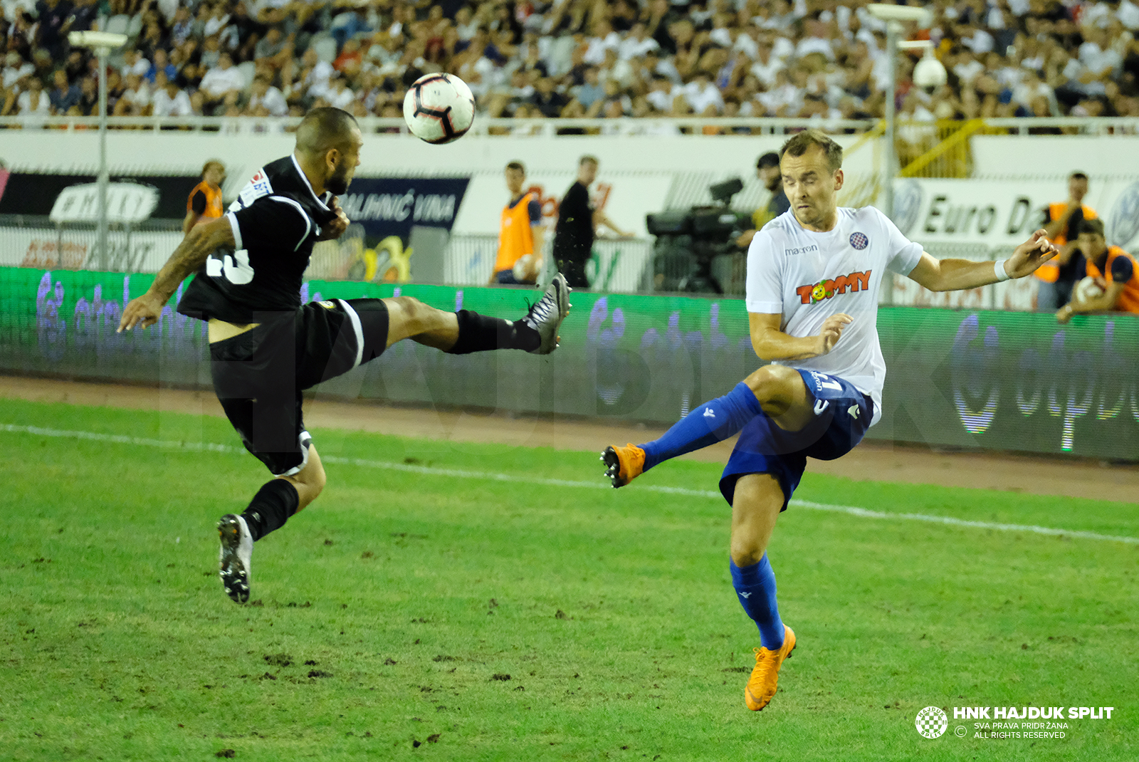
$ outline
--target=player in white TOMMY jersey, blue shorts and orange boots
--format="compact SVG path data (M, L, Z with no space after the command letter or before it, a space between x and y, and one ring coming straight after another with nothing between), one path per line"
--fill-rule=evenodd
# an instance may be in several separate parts
M739 433L720 480L731 505L731 579L760 630L744 689L749 710L776 694L795 633L779 618L767 548L806 458L854 448L882 416L886 367L878 345L878 290L886 271L935 292L976 288L1032 275L1056 255L1043 230L999 262L936 260L874 207L839 208L842 148L809 130L779 151L792 207L747 251L752 346L763 366L722 398L698 405L664 436L601 453L613 486L664 460Z

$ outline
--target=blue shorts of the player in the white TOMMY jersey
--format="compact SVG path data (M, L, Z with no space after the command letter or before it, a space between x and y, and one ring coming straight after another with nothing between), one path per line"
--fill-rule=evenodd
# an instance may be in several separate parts
M771 474L784 491L784 507L798 486L808 457L834 460L862 441L874 402L850 382L814 370L800 370L813 396L814 418L797 432L786 432L767 416L756 416L739 433L736 449L720 477L720 492L731 505L736 482L746 474Z

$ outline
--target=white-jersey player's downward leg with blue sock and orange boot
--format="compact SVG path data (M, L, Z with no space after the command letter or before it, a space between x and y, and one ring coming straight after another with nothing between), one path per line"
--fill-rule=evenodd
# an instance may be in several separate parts
M776 575L767 546L785 502L771 474L746 474L736 482L731 503L731 583L760 630L755 667L744 688L744 704L757 712L776 695L779 667L795 649L795 633L779 618Z

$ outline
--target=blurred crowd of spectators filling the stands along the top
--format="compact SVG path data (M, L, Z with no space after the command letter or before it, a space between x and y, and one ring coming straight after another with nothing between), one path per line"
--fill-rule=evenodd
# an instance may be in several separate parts
M108 75L113 115L400 116L409 83L446 71L490 116L869 118L883 113L887 60L866 5L0 0L0 115L97 114L97 64L67 33L103 28L131 35ZM1130 0L932 6L933 27L910 36L934 42L949 81L917 88L918 54L903 62L902 118L1139 116Z

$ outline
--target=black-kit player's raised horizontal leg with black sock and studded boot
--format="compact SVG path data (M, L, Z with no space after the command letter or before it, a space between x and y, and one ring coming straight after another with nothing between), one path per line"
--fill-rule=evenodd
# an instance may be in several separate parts
M491 318L470 310L443 312L409 296L386 298L387 346L410 338L450 354L492 350L549 354L557 349L558 328L570 314L571 290L565 276L554 276L546 293L519 320Z

